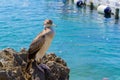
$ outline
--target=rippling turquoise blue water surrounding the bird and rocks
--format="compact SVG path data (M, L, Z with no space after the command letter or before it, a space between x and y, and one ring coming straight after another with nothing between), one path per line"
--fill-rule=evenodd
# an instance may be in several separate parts
M57 25L48 53L67 62L70 80L120 80L120 22L61 0L0 0L0 49L28 49L46 18Z

